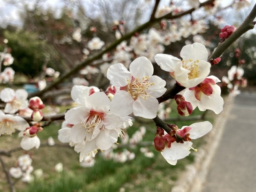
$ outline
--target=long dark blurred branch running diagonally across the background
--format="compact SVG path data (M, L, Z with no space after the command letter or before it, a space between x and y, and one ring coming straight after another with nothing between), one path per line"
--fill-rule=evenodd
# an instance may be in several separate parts
M204 6L204 5L208 5L208 4L212 4L212 2L214 2L214 0L208 0L202 4L200 4L200 7ZM86 65L89 65L91 62L93 62L94 60L98 60L100 58L102 58L103 54L112 51L113 49L115 49L115 47L117 45L119 45L122 41L127 40L129 38L131 38L134 33L136 32L141 32L144 29L147 29L149 27L151 27L152 25L154 25L155 23L161 21L162 19L175 19L175 18L180 18L186 14L191 14L195 9L189 9L188 11L185 11L183 13L179 13L179 14L175 14L172 15L172 13L168 13L160 18L154 18L153 20L149 20L148 22L146 22L145 24L140 25L139 27L137 27L136 29L134 29L133 31L131 31L130 33L125 34L124 36L122 36L122 38L116 40L115 42L113 42L111 45L109 45L109 47L107 47L105 50L102 50L100 53L91 56L89 58L87 58L86 60L84 60L84 62L81 62L80 64L76 65L76 67L74 67L73 69L71 69L71 71L67 72L66 74L64 74L62 77L58 78L55 82L51 83L51 85L49 85L48 87L46 87L44 90L42 91L38 91L36 93L32 93L29 94L29 98L34 97L34 96L42 96L45 92L51 90L53 87L55 87L56 85L58 85L59 83L63 82L66 78L68 78L69 76L77 73L78 71L80 71L83 67L85 67Z

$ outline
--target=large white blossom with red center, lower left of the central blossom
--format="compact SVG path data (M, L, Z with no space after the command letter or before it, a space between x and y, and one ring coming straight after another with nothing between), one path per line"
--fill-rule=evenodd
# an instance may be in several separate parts
M107 150L117 138L122 135L123 120L111 113L110 100L103 92L95 92L88 96L78 95L80 106L70 109L65 114L65 120L74 125L71 129L71 141L77 143L76 152L80 152L80 162L89 152L98 148Z

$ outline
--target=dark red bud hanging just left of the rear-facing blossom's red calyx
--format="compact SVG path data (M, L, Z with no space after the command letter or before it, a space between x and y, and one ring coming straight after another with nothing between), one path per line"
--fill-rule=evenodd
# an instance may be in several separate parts
M176 95L174 97L176 103L178 104L177 110L178 113L182 116L189 116L193 112L193 107L191 103L185 101L185 98L182 95Z

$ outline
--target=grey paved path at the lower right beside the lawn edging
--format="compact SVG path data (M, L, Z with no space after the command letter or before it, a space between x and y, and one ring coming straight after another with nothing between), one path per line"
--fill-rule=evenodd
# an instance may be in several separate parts
M256 192L256 94L236 96L202 192Z

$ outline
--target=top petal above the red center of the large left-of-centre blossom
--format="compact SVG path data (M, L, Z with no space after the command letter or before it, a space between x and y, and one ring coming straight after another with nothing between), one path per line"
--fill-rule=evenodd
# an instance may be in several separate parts
M95 92L87 97L85 105L97 112L107 112L109 111L110 100L104 92Z

